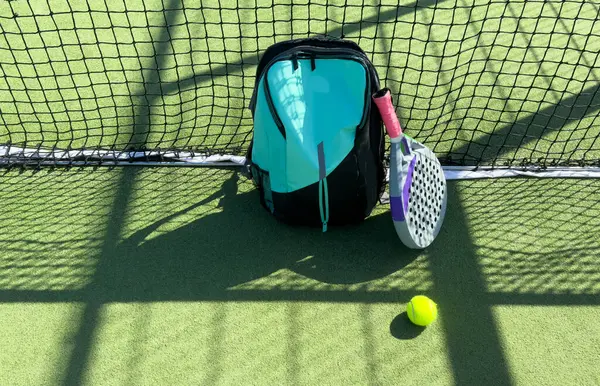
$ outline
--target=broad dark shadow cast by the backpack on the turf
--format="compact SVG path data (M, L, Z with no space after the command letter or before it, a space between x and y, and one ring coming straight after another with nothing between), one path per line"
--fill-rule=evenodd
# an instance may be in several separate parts
M135 232L116 246L116 258L102 266L96 284L113 301L226 300L232 287L251 290L253 280L281 269L296 272L300 281L356 284L397 272L418 255L399 243L387 214L323 234L280 224L260 207L257 192L238 194L237 188L233 173L221 190ZM157 232L211 201L221 211ZM245 300L269 296L246 292Z

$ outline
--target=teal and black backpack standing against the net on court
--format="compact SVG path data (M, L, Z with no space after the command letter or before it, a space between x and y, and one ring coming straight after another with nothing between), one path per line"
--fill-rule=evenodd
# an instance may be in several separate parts
M377 90L377 72L354 42L306 38L265 51L246 170L276 218L326 231L371 213L385 178Z

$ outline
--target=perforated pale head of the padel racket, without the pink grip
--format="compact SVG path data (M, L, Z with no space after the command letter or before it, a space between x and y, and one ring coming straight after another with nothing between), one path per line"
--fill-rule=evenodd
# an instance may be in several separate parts
M413 249L428 247L437 237L446 215L447 186L435 154L414 140L401 156L399 184L402 216L394 220L401 241Z

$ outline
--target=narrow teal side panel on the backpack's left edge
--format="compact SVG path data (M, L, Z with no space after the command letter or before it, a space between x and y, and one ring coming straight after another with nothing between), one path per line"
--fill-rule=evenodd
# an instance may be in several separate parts
M270 173L271 190L280 193L288 191L286 181L286 141L279 132L267 104L264 79L258 87L254 111L254 142L252 161Z

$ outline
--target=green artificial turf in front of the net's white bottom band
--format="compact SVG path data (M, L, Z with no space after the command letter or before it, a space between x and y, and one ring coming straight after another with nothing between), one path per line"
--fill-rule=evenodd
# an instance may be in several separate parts
M231 170L4 171L0 384L597 384L599 187L451 182L411 251L385 205L288 227Z

